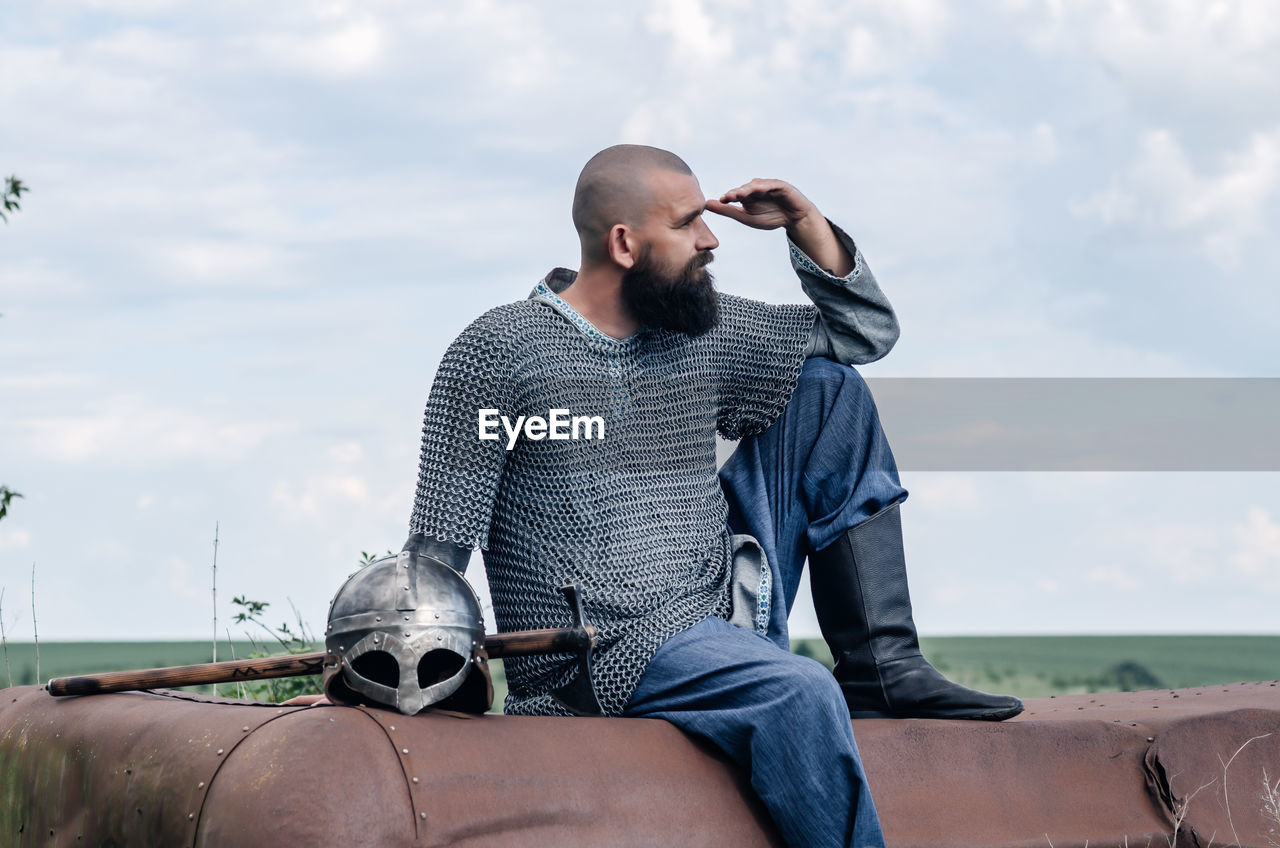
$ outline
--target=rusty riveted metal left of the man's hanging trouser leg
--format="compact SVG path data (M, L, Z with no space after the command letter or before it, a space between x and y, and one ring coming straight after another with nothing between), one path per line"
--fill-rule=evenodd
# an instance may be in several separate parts
M6 847L782 844L741 775L655 720L20 687L0 787Z

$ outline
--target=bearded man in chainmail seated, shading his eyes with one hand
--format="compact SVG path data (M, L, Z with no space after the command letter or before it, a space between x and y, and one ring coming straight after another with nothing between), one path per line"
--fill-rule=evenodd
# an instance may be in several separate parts
M705 211L785 228L815 307L717 293ZM620 145L582 169L573 223L580 270L490 310L440 363L406 547L458 570L480 547L503 630L566 624L558 587L581 587L596 692L563 656L508 660L508 712L666 719L750 771L788 844L882 844L850 715L1021 708L919 652L906 491L849 368L892 347L892 309L852 241L780 181L705 200L673 154ZM488 438L486 410L603 433ZM716 432L742 439L718 479ZM806 556L835 678L786 649Z

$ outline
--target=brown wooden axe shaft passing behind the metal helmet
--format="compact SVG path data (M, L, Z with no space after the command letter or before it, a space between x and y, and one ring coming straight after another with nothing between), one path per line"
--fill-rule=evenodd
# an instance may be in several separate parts
M521 657L531 653L579 653L595 644L595 628L549 628L518 633L492 633L484 638L485 653L494 660ZM136 689L161 689L168 687L193 687L210 683L236 683L265 680L268 678L294 678L324 671L324 651L291 653L256 660L229 660L227 662L201 662L168 669L143 671L108 671L72 678L55 678L45 688L50 694L102 694L105 692L132 692Z

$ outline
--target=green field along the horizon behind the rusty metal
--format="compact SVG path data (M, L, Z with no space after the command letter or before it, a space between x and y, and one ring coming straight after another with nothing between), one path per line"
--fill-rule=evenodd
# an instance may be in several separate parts
M1024 698L1280 678L1280 637L1270 635L934 637L922 643L925 656L952 680ZM238 657L251 651L247 642L234 644ZM831 665L820 639L797 639L795 651ZM40 678L187 665L209 657L207 642L42 642ZM218 658L232 658L227 643L219 644ZM492 666L500 705L502 664ZM35 646L9 643L0 687L10 675L14 685L36 681Z

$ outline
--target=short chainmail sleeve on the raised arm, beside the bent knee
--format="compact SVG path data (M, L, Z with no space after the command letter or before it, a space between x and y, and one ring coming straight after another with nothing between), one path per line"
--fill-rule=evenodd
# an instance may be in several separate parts
M768 429L782 414L804 366L813 306L762 304L721 295L721 323L712 350L718 355L719 411L716 429L740 439Z

